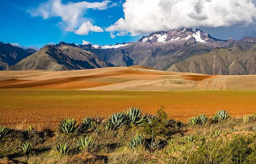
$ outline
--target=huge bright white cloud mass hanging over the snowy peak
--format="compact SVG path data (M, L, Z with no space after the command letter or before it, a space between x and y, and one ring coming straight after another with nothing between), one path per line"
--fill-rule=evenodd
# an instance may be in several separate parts
M255 0L126 0L124 18L106 31L132 36L183 27L248 26L256 17Z

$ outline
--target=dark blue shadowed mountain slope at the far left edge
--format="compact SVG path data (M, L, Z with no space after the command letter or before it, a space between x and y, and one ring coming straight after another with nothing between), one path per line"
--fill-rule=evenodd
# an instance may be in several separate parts
M15 65L35 52L33 49L23 50L9 43L0 42L0 70L6 70L9 66Z

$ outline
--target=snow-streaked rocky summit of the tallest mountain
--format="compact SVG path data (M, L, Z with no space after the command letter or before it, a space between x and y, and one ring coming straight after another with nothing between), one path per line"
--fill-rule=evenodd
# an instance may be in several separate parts
M195 40L196 42L206 43L217 41L219 39L213 38L211 35L204 33L202 30L197 28L182 28L170 31L158 31L153 32L148 36L143 36L139 42L161 42L167 43L177 40Z

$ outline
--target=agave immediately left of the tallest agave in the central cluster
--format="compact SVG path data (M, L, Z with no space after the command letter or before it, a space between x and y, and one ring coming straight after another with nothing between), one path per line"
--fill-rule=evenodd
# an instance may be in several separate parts
M113 125L114 129L119 129L127 124L125 113L112 113L109 117L108 121Z

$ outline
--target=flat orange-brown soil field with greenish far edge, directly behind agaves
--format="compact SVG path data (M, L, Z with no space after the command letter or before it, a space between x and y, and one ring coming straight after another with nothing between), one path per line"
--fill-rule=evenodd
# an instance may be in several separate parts
M0 125L26 128L50 126L65 117L108 117L136 106L154 114L160 106L168 117L187 122L200 113L221 109L233 117L256 112L255 91L86 91L0 89Z

